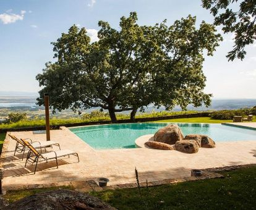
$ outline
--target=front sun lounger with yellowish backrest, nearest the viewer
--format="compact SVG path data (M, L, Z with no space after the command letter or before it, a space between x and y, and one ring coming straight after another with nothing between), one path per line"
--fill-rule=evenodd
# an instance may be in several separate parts
M28 156L27 156L27 160L26 160L26 163L25 163L25 167L27 166L27 162L30 162L32 165L33 163L36 163L36 166L35 166L35 171L34 171L34 174L36 172L36 167L37 167L37 164L38 164L38 160L40 158L43 158L46 163L51 160L51 159L56 159L56 166L57 166L57 169L59 168L58 166L58 157L64 157L64 156L70 156L70 155L74 155L74 156L77 156L77 159L78 161L80 162L79 160L79 155L73 151L71 151L72 153L68 153L68 154L62 154L61 156L58 156L56 151L49 151L48 153L39 153L32 145L30 145L30 143L28 143L28 141L26 140L23 140L22 138L20 139L23 141L23 143L28 147L30 148L30 151L28 151ZM61 151L61 150L60 150ZM62 150L63 151L63 150ZM49 154L49 153L55 153L55 157L51 157L51 158L47 158L47 157L44 157L44 155L46 154ZM34 154L34 156L32 156L32 154Z

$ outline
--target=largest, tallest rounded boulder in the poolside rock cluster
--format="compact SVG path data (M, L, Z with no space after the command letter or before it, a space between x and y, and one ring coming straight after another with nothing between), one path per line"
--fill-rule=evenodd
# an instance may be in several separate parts
M184 138L181 128L177 125L167 125L160 128L154 135L154 141L163 142L169 145L174 145L176 141L181 141Z

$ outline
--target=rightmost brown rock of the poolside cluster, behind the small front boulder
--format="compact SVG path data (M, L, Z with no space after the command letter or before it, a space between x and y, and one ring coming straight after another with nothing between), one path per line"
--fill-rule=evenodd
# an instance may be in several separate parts
M194 140L198 143L199 147L215 148L215 141L207 135L189 134L185 136L184 140Z

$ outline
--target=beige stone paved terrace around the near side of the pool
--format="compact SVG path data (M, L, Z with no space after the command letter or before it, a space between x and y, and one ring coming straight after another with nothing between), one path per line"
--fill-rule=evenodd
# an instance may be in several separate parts
M33 132L11 132L18 138L45 140L45 134L33 135ZM90 148L67 128L52 130L51 140L58 142L62 149L72 149L77 157L59 160L59 169L55 161L38 164L36 174L33 167L24 168L25 161L20 154L13 156L15 141L6 139L2 152L2 164L5 169L3 187L21 188L33 184L49 184L54 182L71 182L107 177L109 185L134 183L134 169L139 171L140 182L148 182L187 177L190 169L205 169L239 164L256 163L256 141L237 141L216 143L216 148L200 148L196 154L185 154L178 151L163 151L147 148L108 149ZM57 148L56 148L57 149Z

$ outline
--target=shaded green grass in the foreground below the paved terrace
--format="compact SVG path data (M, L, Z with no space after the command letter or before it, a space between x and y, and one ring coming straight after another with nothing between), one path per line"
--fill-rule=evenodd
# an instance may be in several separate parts
M224 179L141 188L141 196L137 188L106 190L90 194L117 209L254 209L256 167L236 169L222 174L225 175ZM55 189L12 190L7 191L4 198L13 202L41 191Z

